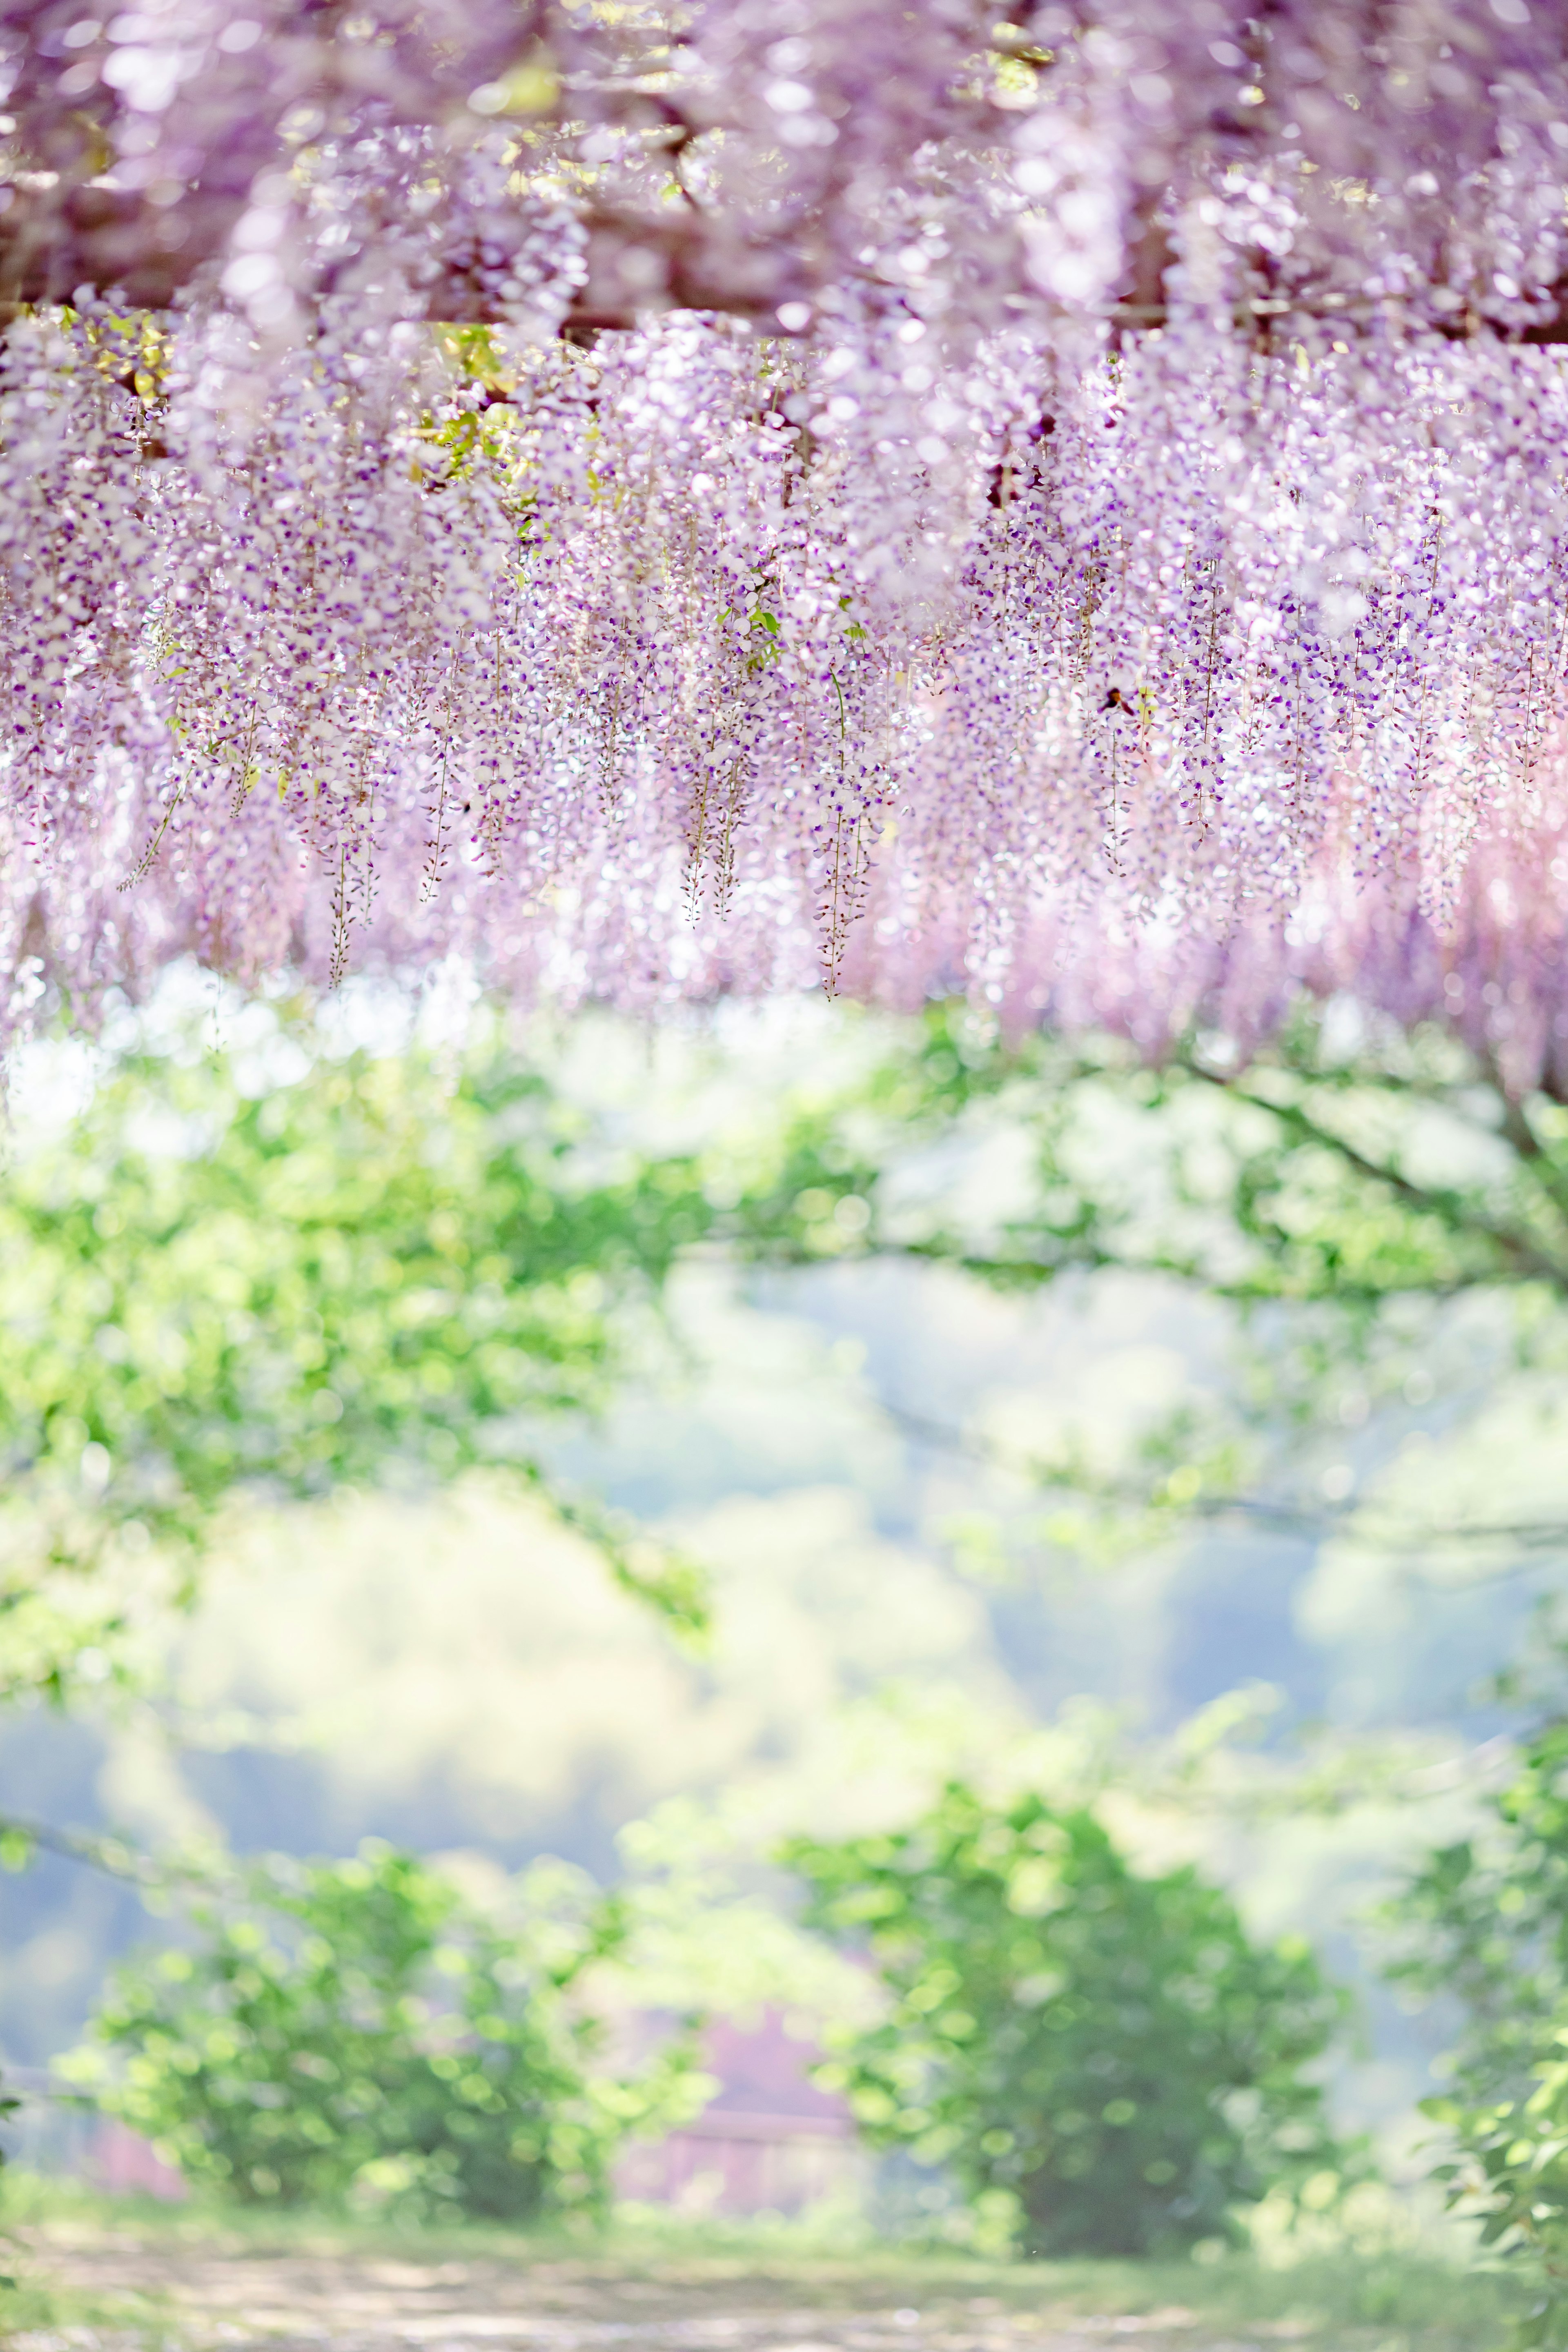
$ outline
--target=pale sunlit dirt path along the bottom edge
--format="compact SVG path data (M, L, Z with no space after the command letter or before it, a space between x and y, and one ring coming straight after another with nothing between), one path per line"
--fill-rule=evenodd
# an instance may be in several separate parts
M56 2317L7 2352L1486 2352L1493 2328L1199 2312L1159 2279L766 2258L541 2256L489 2246L263 2246L169 2230L47 2225L26 2274ZM1103 2265L1112 2272L1117 2265ZM1128 2267L1128 2265L1121 2265ZM1197 2274L1187 2267L1187 2279ZM1168 2279L1166 2279L1168 2288ZM907 2298L907 2300L900 2300ZM1422 2314L1425 2317L1425 2314ZM1446 2314L1460 2319L1458 2312Z

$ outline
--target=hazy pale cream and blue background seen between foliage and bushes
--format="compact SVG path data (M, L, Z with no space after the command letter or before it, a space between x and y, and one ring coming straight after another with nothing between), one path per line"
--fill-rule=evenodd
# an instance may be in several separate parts
M416 1037L456 1058L475 1021L461 990L414 1014L360 985L313 1051ZM658 1033L583 1016L536 1028L527 1051L599 1150L635 1155L745 1138L792 1087L851 1087L891 1035L795 1002ZM139 1037L183 1065L228 1058L247 1094L306 1068L266 1004L209 983L165 988ZM71 1134L106 1068L108 1047L28 1049L16 1164ZM136 1141L155 1157L205 1148L172 1112L162 1129L143 1115ZM1114 1103L1088 1152L1105 1181L1135 1174ZM997 1228L1030 1164L1025 1127L983 1105L898 1152L884 1204L940 1200ZM153 1853L350 1853L378 1837L458 1875L538 1856L599 1884L684 1875L642 1994L750 2034L731 2049L741 2072L783 2018L799 2046L783 2103L799 2107L853 1971L795 1924L778 1842L898 1823L954 1773L1091 1792L1140 1865L1201 1863L1258 1936L1309 1936L1354 1987L1333 2105L1410 2180L1415 2100L1450 2020L1401 2009L1368 1922L1472 1818L1486 1743L1507 1748L1488 1677L1561 1588L1563 1552L1368 1541L1347 1501L1406 1498L1425 1526L1486 1519L1497 1496L1514 1517L1561 1512L1549 1385L1497 1378L1495 1315L1455 1308L1392 1397L1373 1404L1352 1369L1305 1435L1276 1432L1307 1496L1295 1515L1128 1512L1077 1541L1032 1461L1084 1444L1114 1470L1159 1416L1237 1392L1284 1324L1269 1338L1220 1298L1124 1268L999 1289L917 1254L863 1258L865 1214L825 1202L799 1265L696 1247L602 1418L531 1430L550 1472L708 1571L705 1639L682 1639L498 1472L254 1503L223 1522L190 1611L136 1632L134 1691L7 1715L0 1813ZM1476 1381L1493 1383L1479 1416ZM106 1966L167 1924L134 1886L49 1851L0 1882L0 1905L5 2058L42 2070L78 2042ZM59 2126L31 2131L61 2159ZM644 2164L644 2185L661 2178Z

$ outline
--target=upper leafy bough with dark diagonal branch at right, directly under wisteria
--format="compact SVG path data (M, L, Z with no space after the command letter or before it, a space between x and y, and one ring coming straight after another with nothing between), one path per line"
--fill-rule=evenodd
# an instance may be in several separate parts
M1253 1061L1180 1037L1150 1063L1117 1037L1004 1037L943 1007L877 1091L917 1124L1004 1115L1030 1136L1032 1204L987 1237L933 1225L922 1242L999 1282L1143 1265L1363 1310L1568 1291L1568 1108L1519 1101L1448 1033L1302 1004Z

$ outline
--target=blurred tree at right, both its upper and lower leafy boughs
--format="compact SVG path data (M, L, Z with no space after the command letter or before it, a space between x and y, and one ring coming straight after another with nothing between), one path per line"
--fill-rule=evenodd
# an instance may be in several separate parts
M1009 1197L976 1214L961 1183L903 1181L938 1134L950 1171L1006 1138ZM1056 1538L1126 1545L1237 1510L1305 1534L1354 1515L1363 1541L1401 1548L1568 1534L1568 1515L1514 1524L1507 1510L1382 1526L1354 1491L1326 1508L1316 1475L1295 1477L1302 1439L1326 1428L1434 1397L1462 1425L1500 1378L1568 1369L1568 1108L1512 1089L1507 1040L1399 1030L1331 1002L1298 1007L1251 1058L1194 1033L1154 1061L1126 1040L1006 1037L938 1007L893 1037L835 1141L844 1174L823 1145L811 1216L790 1235L752 1221L748 1247L898 1254L1023 1291L1117 1268L1234 1305L1229 1397L1150 1423L1114 1468L1077 1437L1009 1456L1070 1501ZM846 1192L863 1195L849 1218ZM917 1435L999 1456L978 1430Z

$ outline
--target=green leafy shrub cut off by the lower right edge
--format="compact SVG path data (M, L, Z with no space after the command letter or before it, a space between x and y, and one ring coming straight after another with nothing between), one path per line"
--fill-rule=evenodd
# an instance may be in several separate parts
M1486 1832L1427 1856L1387 1924L1387 1973L1462 2004L1453 2089L1422 2107L1455 2145L1436 2178L1537 2277L1519 2340L1568 2345L1568 1719L1533 1731Z

